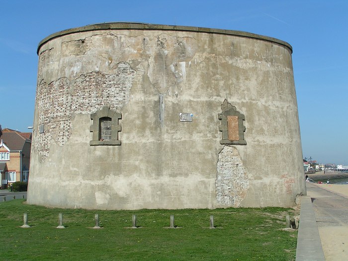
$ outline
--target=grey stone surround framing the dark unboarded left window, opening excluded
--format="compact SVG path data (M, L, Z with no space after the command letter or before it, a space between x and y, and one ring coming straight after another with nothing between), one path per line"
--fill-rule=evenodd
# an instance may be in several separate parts
M99 119L100 118L111 118L111 140L99 140L100 129ZM92 140L89 141L90 146L100 145L121 145L121 141L118 140L118 132L121 131L121 125L118 124L118 120L122 118L121 113L110 110L109 107L103 107L101 110L97 110L95 113L90 115L90 119L93 121L90 126L90 131L93 132Z

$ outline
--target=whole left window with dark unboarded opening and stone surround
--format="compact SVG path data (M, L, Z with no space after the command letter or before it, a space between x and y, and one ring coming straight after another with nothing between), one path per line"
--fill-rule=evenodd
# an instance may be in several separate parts
M121 117L121 113L110 110L106 106L92 113L90 119L93 123L90 126L90 131L93 134L89 145L121 145L121 141L118 139L118 132L121 131L121 125L118 121Z

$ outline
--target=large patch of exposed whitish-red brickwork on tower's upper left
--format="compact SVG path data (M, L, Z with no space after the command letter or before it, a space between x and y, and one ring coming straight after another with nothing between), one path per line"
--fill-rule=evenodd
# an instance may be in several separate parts
M118 64L112 75L91 72L70 81L60 78L50 84L44 81L36 90L38 126L44 124L44 133L34 130L32 147L44 161L51 139L63 146L70 137L74 114L90 114L108 106L119 110L129 101L129 93L136 71L128 63Z

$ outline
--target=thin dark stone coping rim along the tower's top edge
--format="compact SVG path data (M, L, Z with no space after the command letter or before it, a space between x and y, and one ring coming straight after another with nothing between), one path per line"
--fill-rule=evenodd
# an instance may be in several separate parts
M46 38L44 38L37 47L37 54L42 45L46 42L68 34L87 32L87 31L96 31L96 30L117 30L117 29L127 29L127 30L164 30L164 31L186 31L186 32L200 32L200 33L215 33L215 34L226 34L241 36L246 38L254 38L259 40L264 40L268 42L273 42L279 45L284 46L289 49L292 53L292 47L287 42L278 40L276 38L263 36L254 33L248 33L243 31L234 31L234 30L224 30L224 29L214 29L214 28L205 28L205 27L194 27L194 26L182 26L182 25L161 25L161 24L150 24L150 23L138 23L138 22L107 22L107 23L96 23L90 24L82 27L71 28L63 30L60 32L53 33Z

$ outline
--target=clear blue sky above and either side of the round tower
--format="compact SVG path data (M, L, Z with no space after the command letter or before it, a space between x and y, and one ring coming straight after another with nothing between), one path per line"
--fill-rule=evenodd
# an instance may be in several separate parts
M240 30L290 43L303 157L348 165L347 0L1 0L2 127L33 124L43 38L117 21Z

